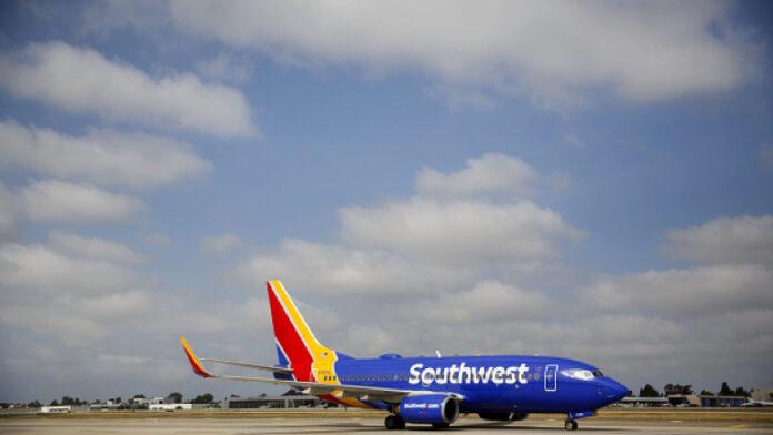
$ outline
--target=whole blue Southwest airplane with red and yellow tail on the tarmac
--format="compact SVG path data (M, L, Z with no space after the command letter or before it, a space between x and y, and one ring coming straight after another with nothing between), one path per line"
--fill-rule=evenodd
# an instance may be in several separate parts
M184 337L193 372L212 380L261 382L301 390L339 405L385 411L386 429L406 423L445 428L460 414L515 422L530 413L566 415L564 427L615 403L628 388L598 367L569 358L528 355L355 358L323 346L279 280L267 282L279 364L199 358ZM273 377L214 374L202 362L265 371Z

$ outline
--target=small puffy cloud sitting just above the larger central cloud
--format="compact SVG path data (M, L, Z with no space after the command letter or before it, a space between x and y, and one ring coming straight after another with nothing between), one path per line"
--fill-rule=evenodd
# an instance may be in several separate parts
M505 193L528 196L540 178L536 171L520 159L493 153L468 159L466 168L450 174L424 168L416 176L422 196L460 198L481 193Z

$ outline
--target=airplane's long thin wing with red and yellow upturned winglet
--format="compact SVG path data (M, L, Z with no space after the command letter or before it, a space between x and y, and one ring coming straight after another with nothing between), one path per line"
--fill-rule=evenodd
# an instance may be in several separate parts
M191 347L188 345L188 342L185 341L185 338L180 337L180 342L182 343L182 347L185 351L185 356L188 356L188 361L191 363L191 367L193 368L193 373L195 373L197 375L199 375L201 377L210 377L210 378L214 378L214 380L228 380L228 381L242 381L242 382L262 382L265 384L285 385L285 386L291 386L291 387L297 387L297 388L303 388L304 393L312 394L312 395L330 394L337 398L357 397L357 398L362 398L362 399L384 401L384 402L391 402L391 403L400 403L400 402L402 402L402 399L405 396L409 396L409 395L422 395L422 394L445 394L445 395L449 395L449 396L456 398L456 399L460 399L460 401L464 398L460 394L450 393L450 392L430 392L430 391L424 391L424 390L383 388L383 387L363 386L363 385L348 385L348 384L323 384L320 382L277 380L277 378L272 378L272 377L261 377L261 376L234 376L234 375L214 374L214 373L209 372L203 366L203 364L201 364L201 360L199 360L199 357L195 356L195 354L193 353ZM237 366L249 367L249 368L260 368L260 370L267 370L267 371L279 372L279 373L292 373L291 368L279 370L278 367L272 367L272 366L251 364L251 363L231 362L231 361L227 361L227 360L211 360L210 358L210 360L205 360L205 361L219 362L219 363L223 363L223 364L237 365Z

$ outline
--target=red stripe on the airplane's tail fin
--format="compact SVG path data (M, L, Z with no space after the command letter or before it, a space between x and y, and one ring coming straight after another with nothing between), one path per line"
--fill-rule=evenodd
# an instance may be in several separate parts
M277 299L271 284L267 284L269 292L269 306L271 307L271 320L274 327L274 337L281 344L282 350L290 361L293 375L298 381L314 381L311 374L313 357L309 348L303 343L303 338L292 324L284 307Z

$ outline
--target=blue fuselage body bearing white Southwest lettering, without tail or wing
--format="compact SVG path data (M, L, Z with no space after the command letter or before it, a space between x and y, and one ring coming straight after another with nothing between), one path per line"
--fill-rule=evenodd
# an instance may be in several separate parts
M581 413L625 396L628 388L580 361L550 356L450 356L359 360L341 355L338 381L396 390L455 393L460 411ZM368 405L389 409L382 402Z

